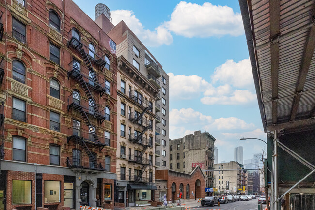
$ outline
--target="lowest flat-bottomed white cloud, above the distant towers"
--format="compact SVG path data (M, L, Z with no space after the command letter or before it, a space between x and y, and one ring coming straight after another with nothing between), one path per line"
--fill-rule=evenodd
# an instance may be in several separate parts
M207 130L217 129L217 130L233 130L233 129L253 129L255 125L253 123L246 123L244 120L229 117L229 118L218 118L215 119L212 124L205 126Z

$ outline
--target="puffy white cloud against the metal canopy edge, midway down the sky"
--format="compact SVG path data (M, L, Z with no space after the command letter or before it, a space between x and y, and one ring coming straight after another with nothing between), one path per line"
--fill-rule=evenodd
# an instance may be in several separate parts
M250 59L244 59L235 62L232 59L226 60L221 66L218 66L211 76L212 82L229 83L230 85L243 88L253 84L252 67Z

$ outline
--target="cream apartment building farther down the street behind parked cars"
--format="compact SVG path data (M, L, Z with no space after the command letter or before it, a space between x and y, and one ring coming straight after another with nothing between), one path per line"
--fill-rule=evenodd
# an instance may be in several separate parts
M247 172L237 170L241 168L236 161L214 165L215 186L220 195L247 193Z

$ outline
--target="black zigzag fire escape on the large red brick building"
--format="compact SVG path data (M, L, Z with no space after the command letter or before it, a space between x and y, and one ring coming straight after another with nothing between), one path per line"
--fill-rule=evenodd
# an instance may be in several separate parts
M72 29L76 30L76 29ZM71 31L72 31L71 30ZM76 30L76 34L78 35L78 31ZM83 75L80 72L80 68L77 64L77 62L72 61L71 65L71 71L68 72L68 79L70 77L73 77L75 80L77 80L83 90L85 91L85 94L87 98L89 99L89 105L82 105L82 102L75 100L73 98L73 95L70 95L68 98L68 111L70 111L71 108L76 109L80 112L85 124L88 126L89 132L85 132L84 130L80 129L76 125L72 127L73 134L69 137L67 137L67 143L71 140L74 140L76 144L79 144L83 147L83 150L85 153L89 156L89 166L88 168L95 168L95 169L103 169L103 166L101 163L97 163L95 155L91 152L88 145L94 145L96 147L99 147L99 150L101 151L105 144L100 141L100 137L97 136L94 126L91 124L89 120L89 115L92 115L94 118L100 121L102 123L105 120L105 115L102 115L94 101L94 98L92 97L91 90L98 91L100 95L102 96L106 89L104 87L101 87L101 85L98 82L97 76L95 74L95 71L92 67L90 56L86 53L84 48L87 48L80 42L79 36L74 35L72 33L72 37L70 41L68 42L68 47L73 47L74 49L78 50L83 58L84 63L86 64L86 67L89 70L89 78L85 75ZM106 64L106 62L102 59L94 60L94 63L100 67L102 70ZM89 108L87 108L89 107ZM90 108L92 107L92 108ZM75 157L69 157L68 158L68 164L71 167L77 167L83 166L80 165L78 162L80 160L77 160Z

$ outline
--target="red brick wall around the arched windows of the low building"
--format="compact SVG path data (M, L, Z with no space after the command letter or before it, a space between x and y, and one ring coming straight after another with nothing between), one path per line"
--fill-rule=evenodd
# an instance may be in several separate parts
M182 174L182 173L178 173ZM156 179L167 180L167 200L169 201L172 198L172 183L176 184L176 193L175 200L177 200L177 194L179 194L179 185L183 184L182 199L186 199L186 186L189 184L189 199L193 198L203 198L205 197L205 177L203 176L200 168L197 168L196 171L191 175L190 178L178 177L178 176L169 176L168 170L157 170ZM196 180L200 180L201 186L200 190L196 194ZM195 197L191 194L191 191L195 194ZM198 197L197 197L198 195Z

